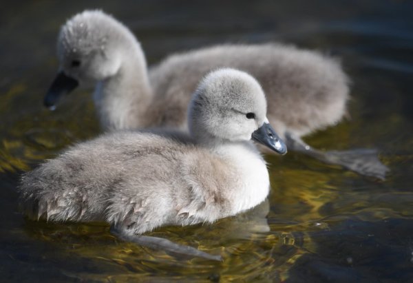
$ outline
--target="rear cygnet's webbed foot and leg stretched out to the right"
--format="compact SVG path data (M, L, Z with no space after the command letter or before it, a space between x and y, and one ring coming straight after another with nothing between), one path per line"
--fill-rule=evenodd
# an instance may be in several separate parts
M293 134L287 132L285 136L288 149L302 152L325 163L341 165L358 174L372 176L380 180L385 180L385 174L390 171L377 157L376 149L319 151Z

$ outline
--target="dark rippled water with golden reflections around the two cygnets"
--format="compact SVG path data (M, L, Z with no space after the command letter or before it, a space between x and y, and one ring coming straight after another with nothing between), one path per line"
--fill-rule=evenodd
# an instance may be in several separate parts
M88 1L0 10L0 273L14 282L409 282L413 278L413 5L409 1ZM211 225L150 233L224 262L176 258L116 239L103 223L32 222L17 180L100 129L90 90L44 109L59 26L101 7L128 25L149 63L222 42L284 41L341 57L351 120L306 138L321 149L374 147L381 182L288 153L267 156L268 202Z

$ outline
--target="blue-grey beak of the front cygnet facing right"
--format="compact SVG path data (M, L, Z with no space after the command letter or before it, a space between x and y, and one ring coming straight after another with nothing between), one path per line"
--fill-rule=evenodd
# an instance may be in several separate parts
M264 123L255 132L253 132L252 138L258 143L262 143L262 145L273 149L273 151L277 152L277 154L284 155L287 153L286 144L281 138L279 138L273 127L271 127L268 123Z

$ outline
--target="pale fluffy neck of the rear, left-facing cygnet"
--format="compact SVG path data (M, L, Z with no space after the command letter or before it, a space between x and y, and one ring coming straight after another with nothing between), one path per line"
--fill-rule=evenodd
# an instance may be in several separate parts
M146 117L153 94L145 55L135 40L127 44L120 50L118 72L96 85L94 100L105 129L137 129L149 123Z

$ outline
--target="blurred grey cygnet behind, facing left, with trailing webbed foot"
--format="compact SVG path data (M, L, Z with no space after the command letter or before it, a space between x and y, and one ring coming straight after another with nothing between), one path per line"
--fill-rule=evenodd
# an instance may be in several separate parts
M98 10L76 14L61 28L59 75L45 96L55 107L78 83L97 83L94 103L104 129L187 129L186 111L200 78L233 67L257 78L268 119L288 148L359 174L384 178L387 167L372 149L319 151L301 136L335 125L346 113L348 78L337 61L291 45L218 45L174 54L147 72L134 34Z

